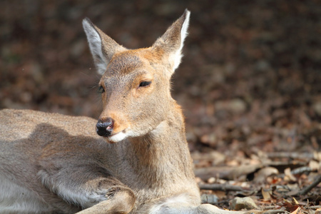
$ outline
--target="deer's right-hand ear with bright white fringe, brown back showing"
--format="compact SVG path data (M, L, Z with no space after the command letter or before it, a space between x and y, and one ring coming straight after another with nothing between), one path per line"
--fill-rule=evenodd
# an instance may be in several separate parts
M152 49L161 49L168 57L170 64L173 65L173 71L180 65L182 58L182 49L185 37L188 35L188 23L190 20L190 11L185 12L180 18L170 26L165 34L158 38L153 44Z

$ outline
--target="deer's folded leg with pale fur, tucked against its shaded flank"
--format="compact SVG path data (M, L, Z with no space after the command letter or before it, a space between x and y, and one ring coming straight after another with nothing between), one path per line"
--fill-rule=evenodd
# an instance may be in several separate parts
M136 201L130 188L97 165L47 168L38 175L46 188L66 202L88 208L81 213L129 213Z

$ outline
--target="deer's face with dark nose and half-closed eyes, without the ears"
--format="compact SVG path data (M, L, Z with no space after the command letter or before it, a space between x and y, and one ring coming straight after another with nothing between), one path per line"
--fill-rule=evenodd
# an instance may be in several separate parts
M103 112L97 133L111 142L143 136L165 120L169 78L151 49L115 54L99 82Z

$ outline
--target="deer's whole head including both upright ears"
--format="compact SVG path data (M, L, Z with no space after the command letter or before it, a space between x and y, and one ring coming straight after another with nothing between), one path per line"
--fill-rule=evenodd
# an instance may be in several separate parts
M144 136L173 113L170 77L180 64L190 12L146 49L126 49L103 33L89 19L83 20L98 73L103 112L98 135L111 143Z

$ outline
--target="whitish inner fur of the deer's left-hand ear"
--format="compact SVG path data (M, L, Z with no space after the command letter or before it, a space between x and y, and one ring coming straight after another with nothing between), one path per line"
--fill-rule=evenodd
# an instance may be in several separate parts
M106 71L108 61L106 56L103 55L101 36L99 36L96 29L94 29L86 19L83 19L83 29L87 36L89 48L91 49L91 54L93 55L97 72L103 75Z

